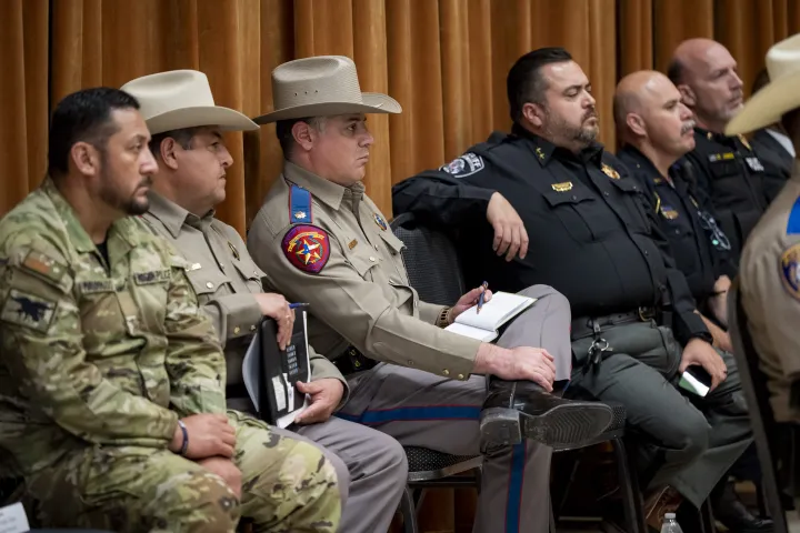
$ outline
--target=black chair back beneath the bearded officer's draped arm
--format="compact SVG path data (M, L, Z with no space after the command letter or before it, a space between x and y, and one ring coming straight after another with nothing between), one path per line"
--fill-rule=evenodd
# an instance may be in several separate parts
M420 223L413 213L396 218L391 229L406 244L403 262L420 300L452 305L467 292L461 262L450 235Z

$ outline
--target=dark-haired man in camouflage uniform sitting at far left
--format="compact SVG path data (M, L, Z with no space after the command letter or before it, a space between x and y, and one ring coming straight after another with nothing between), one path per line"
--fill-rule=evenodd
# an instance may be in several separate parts
M157 170L138 108L106 88L62 100L49 177L0 222L0 449L46 525L334 532L332 465L226 414L186 263L126 217Z

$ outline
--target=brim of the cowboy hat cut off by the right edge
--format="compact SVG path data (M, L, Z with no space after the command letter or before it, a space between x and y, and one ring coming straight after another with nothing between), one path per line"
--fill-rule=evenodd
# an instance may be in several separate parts
M784 113L797 108L800 108L800 71L781 77L753 94L728 122L726 135L760 130L780 121Z

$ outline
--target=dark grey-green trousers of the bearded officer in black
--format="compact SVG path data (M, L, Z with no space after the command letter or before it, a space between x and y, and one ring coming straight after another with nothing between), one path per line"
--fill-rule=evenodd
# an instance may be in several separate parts
M573 330L573 338L576 335ZM709 496L752 442L739 372L720 352L728 378L706 398L678 389L682 348L653 321L606 326L611 351L587 366L593 336L573 339L576 368L568 396L622 403L638 439L642 486L669 484L696 506Z

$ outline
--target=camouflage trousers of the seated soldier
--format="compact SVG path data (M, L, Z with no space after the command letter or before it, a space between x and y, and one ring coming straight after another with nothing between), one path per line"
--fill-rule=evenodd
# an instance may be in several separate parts
M174 453L104 446L30 476L28 512L42 525L118 533L232 532L240 516L256 532L338 531L340 487L322 452L249 416L228 414L237 431L241 502L222 479Z

